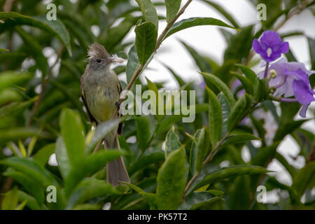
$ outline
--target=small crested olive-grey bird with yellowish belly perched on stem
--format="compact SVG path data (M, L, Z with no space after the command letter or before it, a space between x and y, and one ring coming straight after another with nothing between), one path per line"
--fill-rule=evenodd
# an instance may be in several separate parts
M89 63L80 79L81 96L90 121L98 125L111 119L116 107L120 106L118 101L122 89L116 73L110 66L113 62L122 62L123 59L109 55L99 43L90 45L87 56ZM104 137L105 148L120 149L118 142L120 127ZM113 186L117 186L118 181L130 182L122 157L106 165L106 179Z

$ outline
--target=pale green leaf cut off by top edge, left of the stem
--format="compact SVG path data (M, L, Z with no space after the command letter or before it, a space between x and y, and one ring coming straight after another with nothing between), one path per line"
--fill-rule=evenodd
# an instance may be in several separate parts
M151 2L151 0L136 0L136 1L138 5L140 6L142 14L144 15L144 20L146 20L146 22L152 22L156 30L158 30L159 29L158 13L156 12L155 6Z

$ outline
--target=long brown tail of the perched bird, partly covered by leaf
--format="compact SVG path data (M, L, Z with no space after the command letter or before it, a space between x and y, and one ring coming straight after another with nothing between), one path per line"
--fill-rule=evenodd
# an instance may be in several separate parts
M116 135L115 140L113 141L113 147L110 148L118 148L120 150L118 137ZM118 186L118 181L124 181L130 183L130 178L127 173L127 169L125 167L123 158L113 160L108 162L106 165L106 180L108 183L111 183L113 186Z

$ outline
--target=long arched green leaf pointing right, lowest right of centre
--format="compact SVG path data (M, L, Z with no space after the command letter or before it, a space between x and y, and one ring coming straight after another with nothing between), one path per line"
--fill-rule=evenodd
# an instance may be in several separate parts
M224 179L242 175L265 174L267 172L267 169L263 167L252 165L235 165L231 167L216 169L213 172L210 172L209 174L203 176L202 179L200 179L199 181L195 181L193 186L191 186L190 190L188 191L188 194L198 188L201 188L202 186L216 183L218 181L223 181Z

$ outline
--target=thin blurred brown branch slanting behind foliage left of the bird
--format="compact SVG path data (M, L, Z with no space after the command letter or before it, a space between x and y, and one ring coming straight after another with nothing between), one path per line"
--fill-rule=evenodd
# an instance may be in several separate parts
M60 59L63 51L64 51L64 46L62 46L62 48L60 48L60 50L57 52L57 59L55 60L54 64L52 64L52 66L50 66L50 69L47 72L47 76L45 78L43 78L43 80L42 80L41 92L38 94L38 99L36 100L33 108L31 109L31 113L29 115L29 123L27 124L28 126L31 126L31 123L33 122L33 118L35 116L35 113L38 109L39 104L41 103L41 100L43 99L43 94L45 92L45 88L46 88L48 81L50 79L50 76L52 74L52 69L58 64L59 59Z

